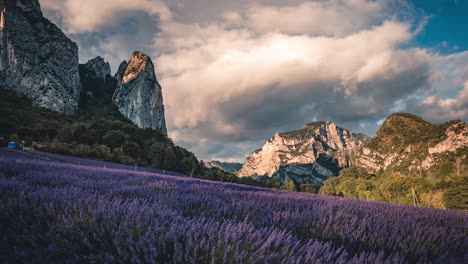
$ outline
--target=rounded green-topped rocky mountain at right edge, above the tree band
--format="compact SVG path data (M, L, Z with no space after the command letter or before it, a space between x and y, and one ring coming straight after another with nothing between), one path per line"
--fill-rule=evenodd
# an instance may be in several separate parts
M430 176L460 174L467 164L467 123L454 120L436 125L406 113L389 116L357 158L357 165L369 172L392 169Z

